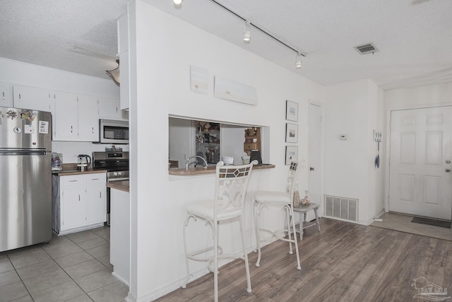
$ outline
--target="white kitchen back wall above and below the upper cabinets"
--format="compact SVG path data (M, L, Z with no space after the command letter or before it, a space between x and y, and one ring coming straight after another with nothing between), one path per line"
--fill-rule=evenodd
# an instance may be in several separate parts
M99 79L4 58L0 58L0 83L119 99L119 86L110 79ZM73 112L67 114L73 115ZM63 153L64 163L76 163L77 155L80 153L105 151L105 146L109 145L85 141L52 141L52 151ZM129 149L128 145L120 146L124 151Z

